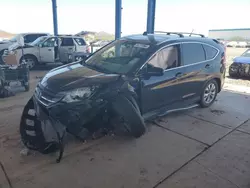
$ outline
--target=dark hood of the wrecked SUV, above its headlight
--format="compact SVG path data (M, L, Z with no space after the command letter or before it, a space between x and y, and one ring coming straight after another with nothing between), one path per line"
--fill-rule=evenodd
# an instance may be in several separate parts
M41 85L57 93L80 87L110 83L119 75L105 74L74 62L48 72L41 80Z

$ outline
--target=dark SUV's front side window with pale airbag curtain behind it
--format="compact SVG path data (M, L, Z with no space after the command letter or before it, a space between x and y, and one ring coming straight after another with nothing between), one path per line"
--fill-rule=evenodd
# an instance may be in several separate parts
M164 70L180 66L179 45L169 46L160 50L152 57L148 64Z

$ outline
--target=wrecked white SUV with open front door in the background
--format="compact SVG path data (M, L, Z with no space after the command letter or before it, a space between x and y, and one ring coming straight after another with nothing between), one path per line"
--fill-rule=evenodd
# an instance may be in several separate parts
M88 53L89 51L90 49L85 40L78 36L43 36L30 44L26 44L23 52L21 47L15 46L9 48L9 51L4 56L15 54L18 62L25 60L29 68L32 69L37 64L68 63L72 53Z

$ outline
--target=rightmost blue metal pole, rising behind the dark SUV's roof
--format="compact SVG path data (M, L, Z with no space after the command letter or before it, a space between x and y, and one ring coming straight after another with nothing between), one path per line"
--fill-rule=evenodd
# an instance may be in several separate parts
M156 0L148 0L147 33L154 33Z

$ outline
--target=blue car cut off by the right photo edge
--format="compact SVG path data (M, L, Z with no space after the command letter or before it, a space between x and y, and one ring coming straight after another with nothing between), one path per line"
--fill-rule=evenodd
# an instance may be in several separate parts
M233 59L233 63L229 66L229 76L250 76L250 49L246 50L242 55Z

